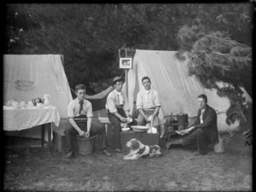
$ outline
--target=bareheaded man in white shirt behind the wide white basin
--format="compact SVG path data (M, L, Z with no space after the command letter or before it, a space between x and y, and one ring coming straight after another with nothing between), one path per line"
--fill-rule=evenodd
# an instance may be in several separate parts
M142 79L144 90L137 94L137 125L145 125L150 123L151 118L154 119L153 125L160 132L160 119L158 113L160 110L160 99L158 92L151 89L151 81L148 77Z

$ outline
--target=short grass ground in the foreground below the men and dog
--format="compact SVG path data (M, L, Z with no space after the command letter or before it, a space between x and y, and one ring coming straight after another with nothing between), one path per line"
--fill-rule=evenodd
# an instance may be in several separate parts
M251 191L252 146L236 133L223 154L210 151L194 156L183 148L163 150L152 159L122 160L108 145L112 157L96 152L65 159L48 148L6 148L4 190L40 191ZM225 136L222 136L225 137ZM97 141L97 140L96 140ZM171 146L172 147L172 146Z

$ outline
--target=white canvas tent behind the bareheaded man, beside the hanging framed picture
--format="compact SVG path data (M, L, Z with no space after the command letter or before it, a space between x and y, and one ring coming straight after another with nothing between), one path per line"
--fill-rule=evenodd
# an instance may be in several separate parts
M171 113L188 113L189 121L195 118L198 105L197 96L205 94L208 104L218 113L218 131L233 131L238 123L226 125L226 110L230 102L225 97L219 97L216 90L207 90L201 86L194 76L188 76L188 58L177 60L177 51L142 50L137 49L133 58L133 68L128 72L128 99L131 112L136 110L137 93L143 89L141 79L148 76L154 90L159 92L161 108L160 120ZM125 88L124 88L125 90ZM245 91L245 96L252 101Z

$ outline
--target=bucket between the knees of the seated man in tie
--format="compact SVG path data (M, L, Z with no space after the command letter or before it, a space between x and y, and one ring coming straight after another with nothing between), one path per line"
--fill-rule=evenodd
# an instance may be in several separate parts
M96 137L77 136L79 154L92 154L95 146Z

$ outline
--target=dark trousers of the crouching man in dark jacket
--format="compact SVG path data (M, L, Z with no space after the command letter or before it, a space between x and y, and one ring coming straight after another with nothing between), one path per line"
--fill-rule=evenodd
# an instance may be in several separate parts
M191 132L187 137L183 138L182 146L185 148L197 148L201 154L207 153L211 132L207 129L197 128Z

